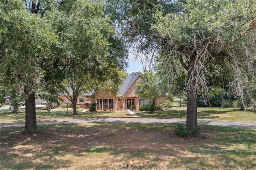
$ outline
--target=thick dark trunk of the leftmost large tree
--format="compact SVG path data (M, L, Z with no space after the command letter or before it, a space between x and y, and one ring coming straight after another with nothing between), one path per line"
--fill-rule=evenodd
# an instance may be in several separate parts
M24 134L34 134L38 132L36 125L36 95L29 94L25 89L24 92L28 95L26 99L26 125Z

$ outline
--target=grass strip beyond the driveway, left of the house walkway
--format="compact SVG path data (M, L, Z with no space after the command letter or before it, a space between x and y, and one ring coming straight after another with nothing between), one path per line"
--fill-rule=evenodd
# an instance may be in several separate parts
M47 113L46 110L36 111L36 120L56 120L56 119L91 119L91 118L107 118L107 117L130 117L128 111L116 111L116 112L82 112L82 110L77 110L78 116L72 116L72 109L60 109L51 110ZM22 122L25 121L25 109L21 109L19 113L12 113L10 110L0 111L1 120L0 123L10 123L10 122Z

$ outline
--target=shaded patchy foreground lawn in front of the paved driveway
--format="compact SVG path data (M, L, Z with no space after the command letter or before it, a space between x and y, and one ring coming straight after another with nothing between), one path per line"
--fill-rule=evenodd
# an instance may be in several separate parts
M199 126L200 136L179 138L175 124L80 123L1 128L1 170L254 169L256 130ZM215 145L215 150L214 149Z

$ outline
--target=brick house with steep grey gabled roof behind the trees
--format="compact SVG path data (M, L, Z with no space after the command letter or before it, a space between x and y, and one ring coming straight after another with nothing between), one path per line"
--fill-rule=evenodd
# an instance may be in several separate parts
M126 79L123 80L122 86L119 90L120 93L118 95L114 95L114 93L106 90L102 90L94 96L92 93L83 93L78 97L77 104L80 105L81 108L86 108L86 101L96 102L97 111L118 111L120 109L130 109L131 105L134 105L135 109L138 111L140 105L146 105L148 101L150 101L150 99L144 99L135 94L137 89L136 83L140 79L143 80L140 74L127 76ZM64 95L60 95L60 98L64 100L61 103L62 105L66 105L66 102L70 103ZM158 105L160 103L165 103L165 101L166 96L160 96L154 102L155 105Z

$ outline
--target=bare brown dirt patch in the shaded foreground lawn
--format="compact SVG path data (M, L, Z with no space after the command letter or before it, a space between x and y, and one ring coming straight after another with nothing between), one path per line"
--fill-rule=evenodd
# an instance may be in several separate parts
M79 127L77 127L79 128ZM86 130L64 130L53 132L39 132L33 135L14 134L2 136L1 145L4 142L24 144L28 142L40 143L42 145L56 145L60 143L76 146L70 150L79 150L81 147L111 146L118 149L137 149L137 150L162 150L170 149L177 144L179 147L194 147L195 141L203 142L214 136L211 132L202 132L198 137L180 138L173 131L144 131L131 129L108 129L87 127ZM13 148L15 149L15 148Z

